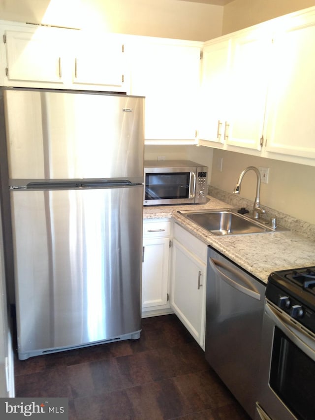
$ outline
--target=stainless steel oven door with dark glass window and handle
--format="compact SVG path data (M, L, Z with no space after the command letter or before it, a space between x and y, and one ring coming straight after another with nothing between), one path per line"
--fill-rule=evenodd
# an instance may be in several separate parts
M273 420L315 419L315 335L266 299L262 337L258 411Z

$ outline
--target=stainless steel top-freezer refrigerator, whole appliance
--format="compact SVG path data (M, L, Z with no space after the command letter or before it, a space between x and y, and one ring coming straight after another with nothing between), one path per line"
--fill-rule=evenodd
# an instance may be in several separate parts
M0 94L19 358L139 338L144 98Z

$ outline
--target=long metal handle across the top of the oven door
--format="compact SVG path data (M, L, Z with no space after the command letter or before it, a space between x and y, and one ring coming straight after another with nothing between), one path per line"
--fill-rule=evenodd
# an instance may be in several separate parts
M315 361L315 336L287 314L265 301L265 313L272 322L306 355Z

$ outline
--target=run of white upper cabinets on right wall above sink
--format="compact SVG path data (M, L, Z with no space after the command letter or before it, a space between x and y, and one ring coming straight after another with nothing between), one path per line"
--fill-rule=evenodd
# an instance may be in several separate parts
M315 165L315 7L205 43L198 143Z

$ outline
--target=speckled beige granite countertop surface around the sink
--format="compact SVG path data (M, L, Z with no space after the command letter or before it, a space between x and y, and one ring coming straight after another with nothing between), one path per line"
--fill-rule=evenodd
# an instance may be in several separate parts
M315 265L315 242L294 231L215 236L178 213L178 210L232 208L208 196L206 204L144 207L144 219L173 218L198 239L211 245L253 276L267 283L272 271Z

